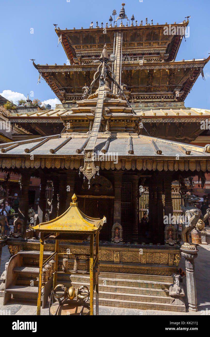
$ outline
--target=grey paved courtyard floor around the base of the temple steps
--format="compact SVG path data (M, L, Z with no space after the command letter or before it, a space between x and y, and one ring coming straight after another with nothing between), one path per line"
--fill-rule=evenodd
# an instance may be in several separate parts
M99 315L210 315L210 244L198 247L198 257L195 262L195 275L197 285L198 312L172 312L160 310L140 310L116 307L99 306ZM4 271L5 263L9 260L7 246L2 249L0 275ZM185 260L181 257L180 267L185 270ZM186 278L183 280L185 299L187 299ZM46 308L41 309L41 315L49 315L49 302ZM187 303L186 303L187 308ZM24 301L20 303L11 300L8 305L3 306L3 298L0 298L0 312L8 310L10 315L36 315L36 304Z

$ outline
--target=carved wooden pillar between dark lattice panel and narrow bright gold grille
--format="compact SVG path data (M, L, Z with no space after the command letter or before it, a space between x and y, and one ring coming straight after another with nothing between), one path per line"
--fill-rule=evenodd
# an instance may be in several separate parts
M132 177L132 210L133 210L133 227L132 243L138 242L138 224L139 224L139 177Z

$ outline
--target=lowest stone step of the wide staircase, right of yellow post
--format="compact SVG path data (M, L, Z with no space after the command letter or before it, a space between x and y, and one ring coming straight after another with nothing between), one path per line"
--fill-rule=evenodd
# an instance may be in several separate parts
M99 294L100 296L100 294ZM95 300L94 300L95 304ZM126 300L113 300L113 299L98 299L99 305L118 307L118 308L132 308L132 309L142 309L142 310L163 310L163 311L177 311L186 312L185 305L173 305L168 303L146 303L140 301L126 301Z

